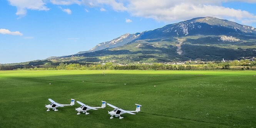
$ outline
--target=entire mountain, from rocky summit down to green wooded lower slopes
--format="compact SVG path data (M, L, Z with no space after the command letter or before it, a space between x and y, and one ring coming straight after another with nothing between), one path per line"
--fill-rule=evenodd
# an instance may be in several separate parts
M124 34L89 51L52 62L216 61L256 57L256 28L215 17L199 17L151 31Z

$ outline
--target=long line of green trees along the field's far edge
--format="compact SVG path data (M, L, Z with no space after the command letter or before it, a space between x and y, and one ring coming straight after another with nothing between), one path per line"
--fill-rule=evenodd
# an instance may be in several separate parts
M59 63L56 65L31 66L31 65L0 65L0 70L256 70L256 61L234 60L231 62L186 62L184 65L171 65L163 63L136 63L118 65L112 62L102 64Z

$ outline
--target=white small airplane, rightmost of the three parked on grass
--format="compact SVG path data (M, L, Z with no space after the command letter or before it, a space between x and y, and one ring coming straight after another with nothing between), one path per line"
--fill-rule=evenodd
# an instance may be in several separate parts
M109 114L111 115L110 119L113 119L113 118L114 118L113 116L115 116L115 117L118 117L118 116L119 116L119 119L122 119L122 118L124 118L124 117L121 117L120 115L122 115L122 114L124 114L124 113L135 114L135 113L132 113L132 112L139 112L139 111L141 111L141 105L138 105L138 104L135 104L135 105L137 105L135 111L126 111L126 110L122 110L121 108L118 108L118 107L116 107L116 106L114 106L114 105L110 105L109 103L107 103L107 105L109 105L109 106L111 106L112 108L114 108L113 111L110 111L110 112L108 111Z

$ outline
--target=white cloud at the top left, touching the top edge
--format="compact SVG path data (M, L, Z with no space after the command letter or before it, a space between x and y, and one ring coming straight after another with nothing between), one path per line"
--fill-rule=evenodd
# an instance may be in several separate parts
M23 17L27 10L47 11L49 8L45 6L43 0L8 0L10 5L17 7L16 15Z

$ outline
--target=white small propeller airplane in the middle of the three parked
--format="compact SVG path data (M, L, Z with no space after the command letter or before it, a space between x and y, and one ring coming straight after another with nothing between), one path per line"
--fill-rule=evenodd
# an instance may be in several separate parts
M105 101L101 101L102 104L101 104L101 107L92 107L92 106L88 106L88 105L85 105L84 103L80 102L80 101L77 101L77 103L79 103L80 106L79 108L75 108L75 110L78 111L77 115L80 115L81 113L80 112L83 112L85 113L85 115L88 115L89 113L87 113L88 110L97 110L97 108L105 108L106 107L106 103Z

